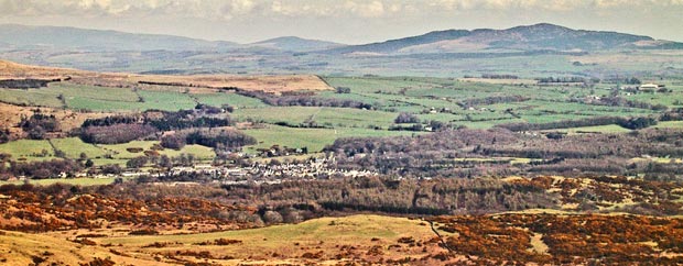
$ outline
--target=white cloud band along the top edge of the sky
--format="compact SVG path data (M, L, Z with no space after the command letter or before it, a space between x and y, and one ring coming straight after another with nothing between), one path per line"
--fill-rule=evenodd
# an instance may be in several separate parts
M356 15L382 18L454 10L568 11L625 7L682 7L683 0L0 0L12 15L143 15L231 19L247 15Z

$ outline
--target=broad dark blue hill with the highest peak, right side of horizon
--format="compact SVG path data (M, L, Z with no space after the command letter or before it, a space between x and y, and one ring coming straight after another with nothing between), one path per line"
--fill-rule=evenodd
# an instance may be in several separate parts
M679 48L682 44L617 32L572 30L541 23L507 30L447 30L382 43L326 51L330 54L430 54L488 51L604 51L619 48Z

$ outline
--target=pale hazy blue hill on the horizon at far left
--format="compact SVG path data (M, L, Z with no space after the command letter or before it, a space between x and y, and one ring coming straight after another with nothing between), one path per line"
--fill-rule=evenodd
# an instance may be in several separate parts
M88 51L195 51L235 46L230 42L117 31L84 30L64 26L0 25L0 42L18 47L47 46Z

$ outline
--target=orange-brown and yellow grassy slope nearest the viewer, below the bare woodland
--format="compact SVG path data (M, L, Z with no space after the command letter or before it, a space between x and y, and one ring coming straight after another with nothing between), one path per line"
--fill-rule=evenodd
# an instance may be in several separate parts
M679 264L683 263L681 224L681 219L633 215L529 213L424 221L361 214L153 236L112 236L97 229L80 231L80 236L74 231L0 231L4 251L0 261L9 265Z

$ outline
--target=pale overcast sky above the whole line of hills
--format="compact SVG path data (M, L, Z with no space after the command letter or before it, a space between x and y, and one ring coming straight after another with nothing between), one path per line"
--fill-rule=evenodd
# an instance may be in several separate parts
M548 22L683 42L683 0L0 0L0 23L347 44Z

